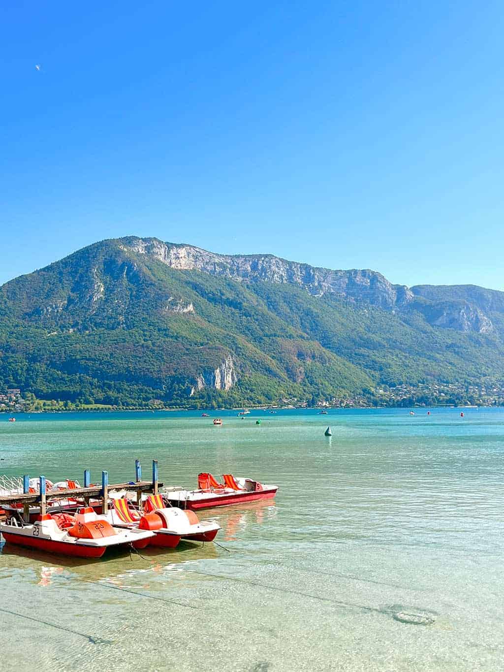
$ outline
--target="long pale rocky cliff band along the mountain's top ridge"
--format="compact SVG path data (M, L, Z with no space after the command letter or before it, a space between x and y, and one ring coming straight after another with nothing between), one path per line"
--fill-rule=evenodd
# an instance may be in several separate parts
M198 270L239 282L274 282L303 287L312 296L335 294L354 304L370 304L401 314L415 308L434 327L488 333L487 311L504 312L504 293L476 286L393 285L368 269L331 270L287 261L273 255L221 255L194 247L163 243L155 238L127 238L123 249L148 255L177 270ZM415 302L417 297L423 302Z

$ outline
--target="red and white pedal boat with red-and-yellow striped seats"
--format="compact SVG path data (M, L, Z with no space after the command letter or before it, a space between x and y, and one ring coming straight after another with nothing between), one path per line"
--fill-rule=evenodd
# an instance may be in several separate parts
M193 511L165 507L161 495L149 495L144 500L144 513L133 509L128 499L114 499L108 520L114 527L133 530L150 530L155 534L151 546L175 548L181 539L212 542L220 526L198 518Z

